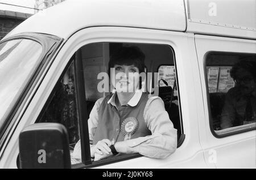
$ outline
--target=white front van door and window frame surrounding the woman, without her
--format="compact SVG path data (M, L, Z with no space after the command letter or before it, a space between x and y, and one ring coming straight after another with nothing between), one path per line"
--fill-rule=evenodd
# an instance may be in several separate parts
M118 48L116 46L119 45L135 45L142 49L146 54L147 72L160 72L166 69L164 71L168 76L165 77L168 78L174 75L175 69L177 91L174 96L177 96L176 109L177 113L180 113L180 119L176 120L180 123L180 134L183 138L180 143L178 142L179 147L176 151L166 158L148 158L132 154L102 161L90 159L87 118L95 100L104 97L104 93L97 91L97 75L98 72L108 70L111 49ZM2 162L3 167L16 168L18 136L22 128L36 122L58 120L57 122L64 123L69 128L71 151L77 140L81 139L82 160L72 161L72 168L207 168L198 133L197 112L200 108L195 104L202 103L201 100L197 101L195 96L195 79L196 86L200 87L200 74L198 68L196 70L195 62L193 34L127 27L81 29L68 38L47 71L10 138L5 161ZM83 73L74 76L77 72ZM76 90L73 84L76 84ZM76 101L81 102L76 104ZM54 108L48 108L53 106Z

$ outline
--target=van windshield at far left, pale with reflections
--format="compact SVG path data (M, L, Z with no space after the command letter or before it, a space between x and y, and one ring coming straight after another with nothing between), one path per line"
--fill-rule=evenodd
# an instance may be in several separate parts
M0 44L0 128L40 63L43 47L28 39Z

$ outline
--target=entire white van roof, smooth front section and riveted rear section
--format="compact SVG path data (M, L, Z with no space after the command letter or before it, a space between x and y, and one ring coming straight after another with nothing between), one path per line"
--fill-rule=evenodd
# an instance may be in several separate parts
M255 0L67 0L31 16L5 38L39 32L67 39L82 28L118 26L256 39L255 12Z

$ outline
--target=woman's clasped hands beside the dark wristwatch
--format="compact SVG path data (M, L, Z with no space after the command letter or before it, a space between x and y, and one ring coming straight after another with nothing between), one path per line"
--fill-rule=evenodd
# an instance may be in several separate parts
M111 149L109 148L112 145L109 139L102 139L97 142L91 149L90 149L90 156L94 157L94 154L97 153L98 155L109 155L111 154Z

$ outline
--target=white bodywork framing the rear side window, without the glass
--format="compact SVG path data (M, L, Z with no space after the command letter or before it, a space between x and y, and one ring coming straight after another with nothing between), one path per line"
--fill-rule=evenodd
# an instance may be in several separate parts
M210 106L206 76L206 58L209 52L253 53L256 54L256 41L238 38L195 35L196 51L201 74L201 88L203 92L204 112L201 113L199 126L203 134L200 135L201 145L208 156L216 152L217 168L255 168L256 136L255 128L240 134L216 138L210 130Z

